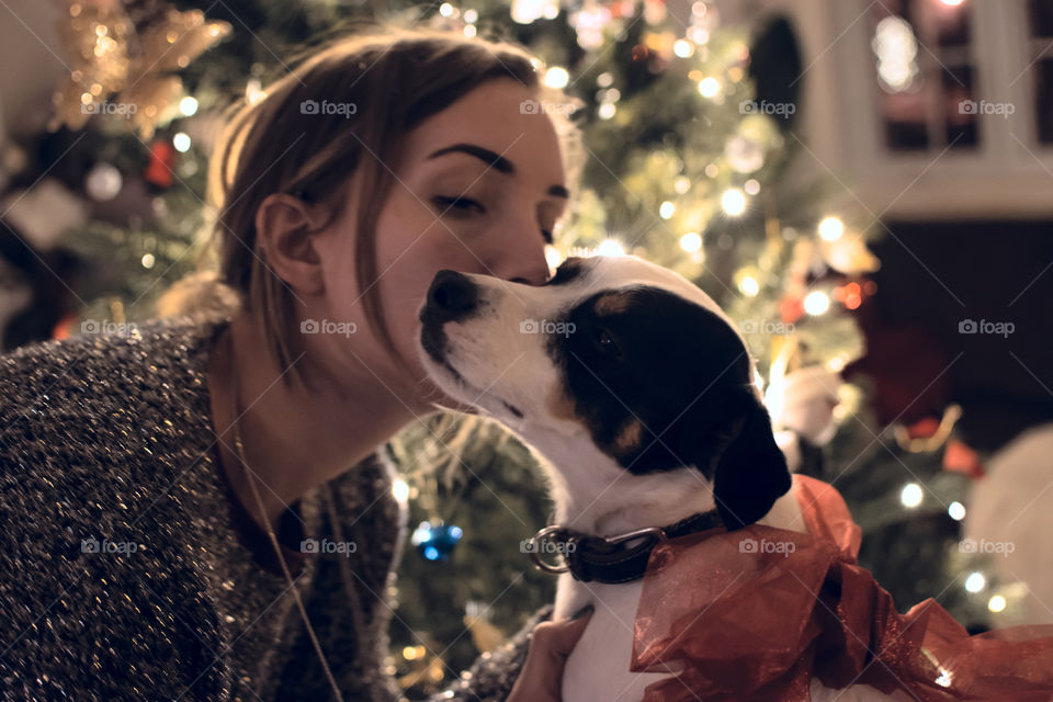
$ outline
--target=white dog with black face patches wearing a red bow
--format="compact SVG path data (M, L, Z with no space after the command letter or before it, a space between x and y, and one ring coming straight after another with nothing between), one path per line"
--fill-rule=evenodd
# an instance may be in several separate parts
M559 575L554 621L596 608L566 663L565 702L641 700L668 677L629 670L643 581L625 564L638 575L656 528L715 513L728 529L806 531L741 335L673 271L633 256L569 258L531 286L444 270L419 319L433 383L541 455L557 525L604 537L592 561L578 558L597 577ZM641 546L642 558L607 558L604 544ZM813 680L812 699L893 698Z

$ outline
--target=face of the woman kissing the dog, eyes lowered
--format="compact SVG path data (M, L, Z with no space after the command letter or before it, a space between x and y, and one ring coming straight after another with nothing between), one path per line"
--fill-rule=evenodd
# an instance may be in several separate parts
M536 94L514 80L484 83L412 129L400 161L386 165L395 182L377 222L375 285L395 347L416 377L404 377L375 339L365 343L354 335L341 344L347 353L340 364L366 363L406 403L458 406L422 381L417 358L417 312L437 271L534 285L548 278L545 244L566 208L567 190L552 120L523 110L528 100ZM361 332L369 327L356 283L354 210L352 202L317 246L327 309L356 320Z

